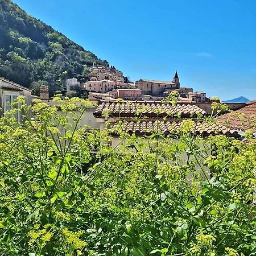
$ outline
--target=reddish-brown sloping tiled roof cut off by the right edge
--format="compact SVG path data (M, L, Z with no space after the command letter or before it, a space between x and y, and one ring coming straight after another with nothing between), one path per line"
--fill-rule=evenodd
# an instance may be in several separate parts
M222 123L233 129L242 131L251 130L256 132L256 103L250 104L232 113L220 115L216 118L218 123Z

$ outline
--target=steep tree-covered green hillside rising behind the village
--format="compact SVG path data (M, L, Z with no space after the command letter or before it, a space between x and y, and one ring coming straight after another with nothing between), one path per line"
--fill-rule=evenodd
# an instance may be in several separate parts
M48 84L52 94L67 78L86 81L93 63L108 65L15 3L0 0L0 76L35 94Z

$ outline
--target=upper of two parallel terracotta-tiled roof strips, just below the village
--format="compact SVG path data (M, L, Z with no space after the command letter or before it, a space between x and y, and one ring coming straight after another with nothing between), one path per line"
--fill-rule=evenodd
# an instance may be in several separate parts
M108 111L110 117L135 117L138 115L140 117L164 117L179 114L186 118L191 115L207 114L196 105L170 105L160 101L101 101L94 115L102 117L104 111Z

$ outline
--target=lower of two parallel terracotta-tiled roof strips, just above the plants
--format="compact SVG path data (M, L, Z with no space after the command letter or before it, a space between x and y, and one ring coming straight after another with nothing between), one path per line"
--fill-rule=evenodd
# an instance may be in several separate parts
M179 131L181 128L181 121L123 121L121 123L116 122L113 124L112 129L113 133L116 134L119 129L121 129L125 133L129 134L137 134L150 135L152 133L156 133L159 131L164 135L174 134ZM203 136L208 135L216 135L216 134L224 134L230 137L237 137L238 132L229 129L228 127L216 124L216 123L208 123L196 121L193 123L193 128L191 130L192 133L201 134Z

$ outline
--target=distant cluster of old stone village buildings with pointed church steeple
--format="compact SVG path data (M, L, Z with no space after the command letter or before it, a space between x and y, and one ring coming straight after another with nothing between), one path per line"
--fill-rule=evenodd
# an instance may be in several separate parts
M181 87L175 72L171 81L139 79L135 83L127 81L123 72L115 67L98 66L89 73L90 80L81 84L77 79L67 80L67 92L79 86L89 94L89 100L160 101L176 90L181 102L209 102L205 92L194 92L193 88ZM126 80L126 81L125 81Z

